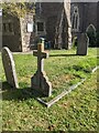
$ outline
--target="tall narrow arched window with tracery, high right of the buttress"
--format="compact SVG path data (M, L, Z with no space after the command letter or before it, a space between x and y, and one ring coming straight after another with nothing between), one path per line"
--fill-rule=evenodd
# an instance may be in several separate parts
M72 17L72 27L74 31L79 31L79 12L77 7L74 7L74 12Z

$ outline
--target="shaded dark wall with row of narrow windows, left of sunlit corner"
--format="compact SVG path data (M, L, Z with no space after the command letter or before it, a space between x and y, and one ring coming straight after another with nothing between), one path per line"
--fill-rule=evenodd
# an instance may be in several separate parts
M2 17L2 47L11 51L22 51L20 20L10 14Z

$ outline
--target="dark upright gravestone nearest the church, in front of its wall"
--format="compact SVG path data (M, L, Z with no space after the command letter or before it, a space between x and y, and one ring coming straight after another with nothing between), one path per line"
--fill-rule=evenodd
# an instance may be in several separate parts
M77 43L77 55L87 55L88 54L89 38L86 33L81 33L78 37Z

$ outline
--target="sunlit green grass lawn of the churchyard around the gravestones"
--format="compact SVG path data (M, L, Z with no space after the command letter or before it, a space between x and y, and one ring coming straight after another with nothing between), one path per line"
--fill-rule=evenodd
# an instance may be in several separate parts
M14 54L20 89L6 83L2 69L2 129L4 131L96 131L97 130L97 49L89 48L88 55L75 55L76 50L52 50L45 60L45 72L53 85L52 98L84 78L86 82L64 96L50 109L34 96L23 93L36 71L32 54Z

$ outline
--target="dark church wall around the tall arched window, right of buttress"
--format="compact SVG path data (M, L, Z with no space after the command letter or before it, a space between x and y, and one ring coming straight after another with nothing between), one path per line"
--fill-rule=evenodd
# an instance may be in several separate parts
M73 2L70 16L73 16L74 7L78 7L79 30L73 31L73 37L86 32L89 24L94 24L97 29L97 2Z

